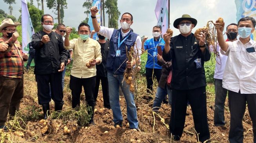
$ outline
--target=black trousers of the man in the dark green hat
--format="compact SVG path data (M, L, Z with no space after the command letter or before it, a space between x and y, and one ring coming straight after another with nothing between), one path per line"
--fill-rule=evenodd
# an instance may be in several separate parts
M186 118L187 101L191 105L194 126L199 134L199 141L203 143L210 138L205 86L190 90L172 89L170 132L178 137L178 139L181 138Z

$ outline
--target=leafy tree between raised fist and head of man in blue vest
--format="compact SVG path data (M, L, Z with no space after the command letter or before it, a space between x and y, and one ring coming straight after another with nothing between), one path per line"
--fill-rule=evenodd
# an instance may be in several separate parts
M118 18L120 16L120 11L118 11L117 0L106 0L105 8L106 13L109 15L109 28L118 29Z

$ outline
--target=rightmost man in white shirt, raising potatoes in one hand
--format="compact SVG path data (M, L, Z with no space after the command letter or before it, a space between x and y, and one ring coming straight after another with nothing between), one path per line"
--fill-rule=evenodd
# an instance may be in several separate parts
M222 35L224 24L216 21L218 43L228 56L222 83L223 88L229 91L230 143L243 143L242 119L246 104L252 120L253 141L256 143L256 41L250 38L255 25L254 18L241 18L238 21L240 38L225 42Z

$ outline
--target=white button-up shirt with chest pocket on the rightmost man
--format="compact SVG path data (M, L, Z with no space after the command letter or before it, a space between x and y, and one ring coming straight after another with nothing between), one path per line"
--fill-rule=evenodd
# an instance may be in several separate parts
M228 42L228 56L224 75L223 88L241 94L256 93L256 52L248 53L246 48L253 47L256 50L256 42L250 39L243 45L238 39L234 42Z

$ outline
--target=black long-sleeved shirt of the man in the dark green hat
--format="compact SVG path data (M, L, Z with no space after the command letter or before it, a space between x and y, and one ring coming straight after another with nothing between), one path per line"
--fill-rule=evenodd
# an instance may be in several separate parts
M206 86L204 62L209 61L211 53L208 46L202 53L194 34L187 37L179 34L171 38L171 50L165 53L163 59L172 60L171 87L176 90L195 89Z

